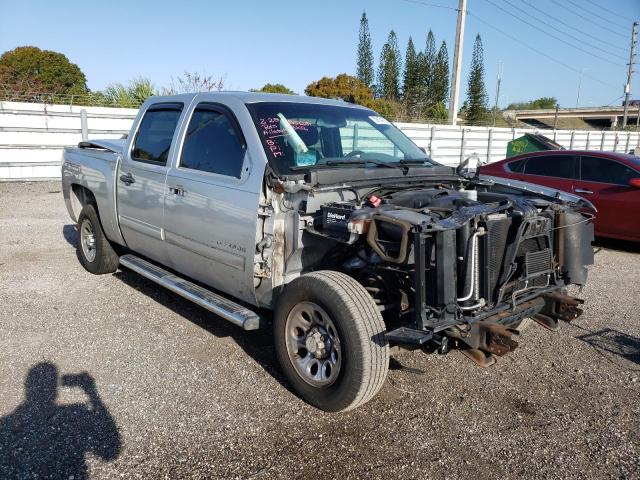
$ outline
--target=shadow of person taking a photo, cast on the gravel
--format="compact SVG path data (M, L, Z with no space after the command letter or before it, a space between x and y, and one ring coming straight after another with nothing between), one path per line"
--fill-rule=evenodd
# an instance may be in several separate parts
M87 403L59 404L58 368L34 365L25 380L25 400L0 418L0 478L88 478L86 455L115 460L122 441L93 378L63 375L62 385L81 388Z

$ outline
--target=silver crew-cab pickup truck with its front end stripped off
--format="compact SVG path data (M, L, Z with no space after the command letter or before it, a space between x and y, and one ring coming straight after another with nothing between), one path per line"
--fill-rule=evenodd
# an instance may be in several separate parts
M557 329L593 262L587 201L439 165L339 101L152 97L126 139L67 148L62 183L88 271L272 328L292 388L327 411L378 392L390 347L488 366L523 321Z

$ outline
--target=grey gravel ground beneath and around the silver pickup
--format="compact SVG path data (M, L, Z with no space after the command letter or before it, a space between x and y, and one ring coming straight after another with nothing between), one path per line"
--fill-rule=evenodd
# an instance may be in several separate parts
M534 324L484 370L398 354L373 401L329 415L268 332L91 275L75 238L59 183L0 184L0 478L640 477L638 248L596 255L560 332Z

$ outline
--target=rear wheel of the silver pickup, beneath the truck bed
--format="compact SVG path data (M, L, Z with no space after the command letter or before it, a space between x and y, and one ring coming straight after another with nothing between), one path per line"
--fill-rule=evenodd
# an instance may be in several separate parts
M89 272L101 275L118 269L118 254L102 231L98 213L93 205L82 208L78 217L78 259Z

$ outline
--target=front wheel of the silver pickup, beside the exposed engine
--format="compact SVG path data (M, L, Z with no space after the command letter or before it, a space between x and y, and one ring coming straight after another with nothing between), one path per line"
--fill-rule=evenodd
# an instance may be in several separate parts
M287 285L278 299L274 336L292 388L321 410L356 408L387 377L382 316L364 287L343 273L313 272Z

